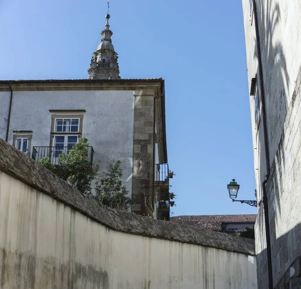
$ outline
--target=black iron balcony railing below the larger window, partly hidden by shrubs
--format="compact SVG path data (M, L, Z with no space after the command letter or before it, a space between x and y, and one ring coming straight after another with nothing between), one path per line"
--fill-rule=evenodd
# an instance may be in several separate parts
M70 152L70 150L72 149L72 147L33 147L33 153L32 153L32 158L36 161L39 161L40 159L44 158L44 157L49 157L51 159L51 162L53 164L58 164L58 158L59 155L64 152L64 154L68 154ZM87 160L91 163L91 165L93 164L93 154L94 154L94 150L93 147L88 146L87 147Z

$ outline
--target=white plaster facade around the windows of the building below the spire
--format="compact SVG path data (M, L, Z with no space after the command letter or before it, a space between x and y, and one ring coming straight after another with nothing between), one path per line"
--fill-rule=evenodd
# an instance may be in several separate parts
M0 137L5 139L10 93L0 92ZM32 130L34 146L49 146L51 115L49 110L77 110L86 112L82 136L94 149L93 163L101 161L100 172L110 162L122 161L123 182L131 192L133 154L133 91L23 91L14 92L9 143L13 144L13 130ZM61 113L66 114L66 113ZM68 113L67 113L68 114ZM74 115L75 113L69 113Z

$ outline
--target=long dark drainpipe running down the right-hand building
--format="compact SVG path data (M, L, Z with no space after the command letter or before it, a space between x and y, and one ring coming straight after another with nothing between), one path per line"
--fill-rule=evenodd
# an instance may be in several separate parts
M270 229L269 229L269 217L268 217L268 201L266 195L266 183L270 176L270 159L269 159L269 149L268 149L265 94L264 94L264 87L263 87L262 60L261 60L256 0L253 0L253 10L254 10L254 20L255 20L256 46L257 46L257 54L258 54L258 70L259 70L259 80L260 80L260 95L261 95L261 102L262 102L263 137L264 137L264 151L265 151L265 162L266 162L265 180L262 182L261 186L262 186L262 203L263 203L263 211L264 211L265 237L266 237L268 288L273 289L272 254L271 254L271 241L270 241Z

